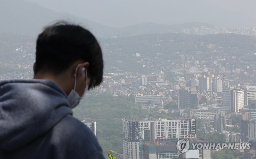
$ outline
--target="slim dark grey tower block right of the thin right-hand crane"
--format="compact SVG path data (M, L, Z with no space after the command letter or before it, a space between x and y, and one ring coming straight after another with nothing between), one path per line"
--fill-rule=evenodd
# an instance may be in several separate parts
M214 128L220 133L225 133L226 131L226 114L224 111L218 111L214 116Z

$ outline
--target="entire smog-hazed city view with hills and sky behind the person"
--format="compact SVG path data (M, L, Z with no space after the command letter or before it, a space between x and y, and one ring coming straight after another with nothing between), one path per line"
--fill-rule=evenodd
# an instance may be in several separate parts
M75 23L97 38L104 69L103 82L85 93L73 116L93 131L105 158L111 149L117 159L252 159L255 6L255 0L2 0L0 81L33 79L37 36L57 21ZM180 139L251 147L181 153Z

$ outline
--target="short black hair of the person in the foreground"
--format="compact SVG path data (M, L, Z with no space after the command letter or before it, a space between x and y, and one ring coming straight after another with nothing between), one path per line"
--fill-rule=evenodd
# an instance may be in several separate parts
M77 60L89 62L89 88L102 82L103 58L100 45L90 31L66 21L44 28L36 41L35 74L38 71L60 74Z

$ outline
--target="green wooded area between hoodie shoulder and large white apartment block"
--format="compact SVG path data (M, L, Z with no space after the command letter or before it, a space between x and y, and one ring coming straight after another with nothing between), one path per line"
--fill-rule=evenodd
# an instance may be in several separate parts
M125 97L115 97L108 93L85 95L73 112L79 120L91 118L96 121L97 138L103 147L104 154L108 149L113 149L118 153L123 153L123 128L122 118L145 119L148 110L143 110L140 104L133 104ZM149 116L153 118L168 118L169 115L151 112Z

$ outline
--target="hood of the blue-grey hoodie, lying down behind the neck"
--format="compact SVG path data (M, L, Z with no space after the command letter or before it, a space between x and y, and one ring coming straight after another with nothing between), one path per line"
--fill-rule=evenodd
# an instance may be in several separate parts
M0 81L0 149L25 146L69 114L66 93L50 80Z

